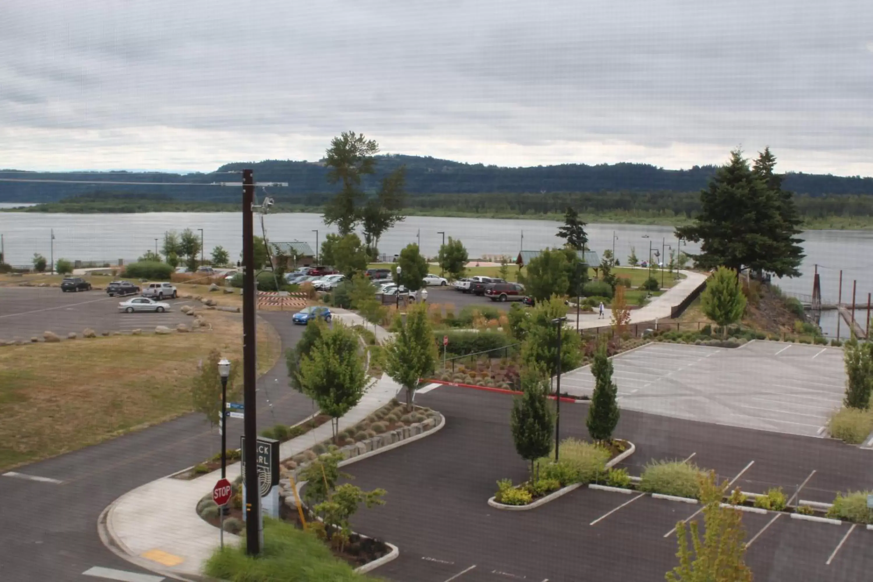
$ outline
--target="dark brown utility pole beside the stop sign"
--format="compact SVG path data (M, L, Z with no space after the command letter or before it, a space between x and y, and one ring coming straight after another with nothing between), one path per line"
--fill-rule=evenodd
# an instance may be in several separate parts
M245 550L250 556L261 552L261 498L258 486L258 401L255 383L255 244L251 205L255 202L255 176L243 170L243 407L245 435Z

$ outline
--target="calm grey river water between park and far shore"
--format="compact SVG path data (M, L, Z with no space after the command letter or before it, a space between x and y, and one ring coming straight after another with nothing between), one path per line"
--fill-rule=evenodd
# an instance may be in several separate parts
M12 204L0 203L0 208ZM293 213L265 216L269 240L306 241L315 246L315 229L320 241L335 229L326 227L320 215ZM409 216L388 230L379 248L394 254L409 243L419 242L424 254L436 256L443 236L459 238L470 257L506 255L515 257L524 250L540 250L563 243L556 236L560 223L544 220L505 220L492 218L453 218L442 216ZM68 215L0 213L0 233L7 261L10 264L29 264L33 253L45 257L52 254L51 230L54 229L54 257L71 260L100 260L116 262L134 260L146 250L155 250L155 238L160 247L167 230L203 229L206 252L221 245L237 259L242 246L242 221L234 213L176 213L155 212L143 214ZM649 257L650 245L654 254L670 246L677 248L673 229L666 226L636 224L589 224L586 228L591 249L602 253L613 248L625 264L633 246L642 261ZM255 233L261 235L256 221ZM614 240L615 236L615 240ZM777 283L785 291L811 294L815 265L821 275L821 291L825 301L835 302L838 293L839 271L843 270L842 299L851 298L852 281L857 280L857 301L866 305L867 293L873 291L873 231L811 230L801 238L807 257L801 266L802 277L782 279ZM669 245L669 246L668 246ZM698 250L687 243L684 250ZM825 327L829 329L826 314Z

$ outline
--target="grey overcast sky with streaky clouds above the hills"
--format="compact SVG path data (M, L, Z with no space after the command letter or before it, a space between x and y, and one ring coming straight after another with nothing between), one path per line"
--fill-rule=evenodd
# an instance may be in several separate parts
M0 168L383 152L873 175L873 2L3 0Z

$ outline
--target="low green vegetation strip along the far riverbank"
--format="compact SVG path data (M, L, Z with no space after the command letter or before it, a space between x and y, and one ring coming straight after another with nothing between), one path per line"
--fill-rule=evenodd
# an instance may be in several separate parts
M471 195L477 196L477 195ZM409 196L412 202L421 197L422 202L430 195ZM802 200L803 197L800 198ZM274 213L316 213L324 212L323 205L283 204L281 199ZM471 201L472 202L472 201ZM873 200L870 201L873 209ZM799 206L802 207L802 204ZM111 199L77 196L58 202L44 202L34 206L0 209L0 212L28 212L43 214L141 214L150 212L237 212L238 205L232 202L185 201L162 195L133 195ZM802 209L802 208L801 208ZM405 216L444 216L451 218L493 218L505 220L548 220L560 222L563 211L537 211L535 209L503 210L480 208L466 210L457 208L405 208ZM670 209L640 210L595 210L580 211L580 217L587 223L644 224L655 226L686 226L693 223L693 217L676 214ZM805 230L866 230L873 229L873 216L803 216L802 229Z

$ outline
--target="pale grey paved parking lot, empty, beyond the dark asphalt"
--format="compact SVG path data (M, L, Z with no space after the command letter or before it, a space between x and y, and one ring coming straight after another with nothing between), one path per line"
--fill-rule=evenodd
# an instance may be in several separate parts
M845 387L842 349L771 341L652 343L618 354L613 366L624 409L793 435L821 435ZM594 386L590 366L560 380L569 394Z

